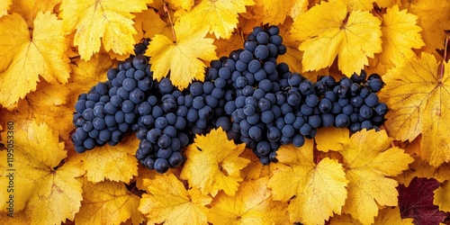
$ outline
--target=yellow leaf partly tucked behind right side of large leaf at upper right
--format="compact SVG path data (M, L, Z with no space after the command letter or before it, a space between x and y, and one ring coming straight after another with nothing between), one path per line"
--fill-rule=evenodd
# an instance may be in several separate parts
M420 36L422 29L416 25L417 19L407 10L399 11L398 5L387 9L386 14L383 14L383 52L377 56L379 65L398 67L416 56L412 49L420 49L425 45Z

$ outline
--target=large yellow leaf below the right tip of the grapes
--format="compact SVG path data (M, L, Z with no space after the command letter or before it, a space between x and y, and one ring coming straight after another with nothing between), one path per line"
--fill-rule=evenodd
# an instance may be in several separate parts
M391 139L384 130L362 130L350 138L342 157L347 164L348 198L343 212L363 224L373 223L378 205L395 206L397 182L385 176L401 174L413 158L401 148L389 148Z

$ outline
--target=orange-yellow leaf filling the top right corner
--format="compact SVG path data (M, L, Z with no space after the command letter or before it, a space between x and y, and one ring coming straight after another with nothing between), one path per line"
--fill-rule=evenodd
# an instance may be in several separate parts
M435 54L436 49L444 49L445 30L450 30L450 1L441 0L403 0L403 8L410 14L419 17L418 24L422 28L422 38L425 42L424 51Z

